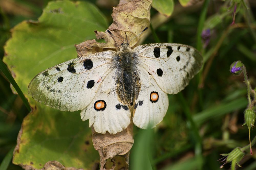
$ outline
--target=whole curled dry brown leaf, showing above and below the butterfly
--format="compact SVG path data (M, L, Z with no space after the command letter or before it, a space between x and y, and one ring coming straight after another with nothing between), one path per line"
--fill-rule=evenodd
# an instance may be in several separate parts
M133 47L136 45L139 40L139 37L136 36L150 24L151 3L152 0L133 0L127 3L123 3L122 1L120 2L121 5L113 7L113 13L111 15L113 17L113 23L109 26L108 30L115 37L118 37L115 38L117 44L121 44L121 40L125 40L126 33L128 41L131 40L129 42L130 46ZM97 39L104 39L106 43L88 40L75 45L79 57L104 50L115 50L117 48L111 35L106 33L107 31L94 32ZM92 127L92 141L94 148L100 155L101 169L119 169L115 161L118 161L119 165L123 165L122 169L128 169L130 149L134 142L132 122L126 129L116 134L110 134L108 132L105 134L97 133ZM120 159L118 155L122 155L124 159ZM109 159L111 159L113 165L107 163Z

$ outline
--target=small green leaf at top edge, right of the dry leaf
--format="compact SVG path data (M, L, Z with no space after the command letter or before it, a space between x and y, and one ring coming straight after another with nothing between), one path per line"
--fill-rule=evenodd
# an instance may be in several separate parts
M174 2L173 0L153 0L152 7L159 13L169 17L173 13Z

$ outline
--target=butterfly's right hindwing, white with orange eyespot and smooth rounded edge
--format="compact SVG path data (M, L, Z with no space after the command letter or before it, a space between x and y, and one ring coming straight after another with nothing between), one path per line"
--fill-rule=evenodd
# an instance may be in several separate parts
M161 122L168 108L168 96L148 71L139 66L140 89L134 104L133 123L139 128L155 127Z

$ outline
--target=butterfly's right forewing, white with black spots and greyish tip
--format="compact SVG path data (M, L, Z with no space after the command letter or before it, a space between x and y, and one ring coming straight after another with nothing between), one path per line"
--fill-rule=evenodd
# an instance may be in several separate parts
M134 48L140 64L166 93L183 90L200 70L203 60L190 46L173 43L144 44Z

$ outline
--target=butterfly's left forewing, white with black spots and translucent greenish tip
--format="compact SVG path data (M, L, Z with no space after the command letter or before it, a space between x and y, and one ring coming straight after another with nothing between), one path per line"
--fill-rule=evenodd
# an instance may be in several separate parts
M77 111L94 98L111 67L114 51L79 57L42 71L30 82L28 92L47 106Z

